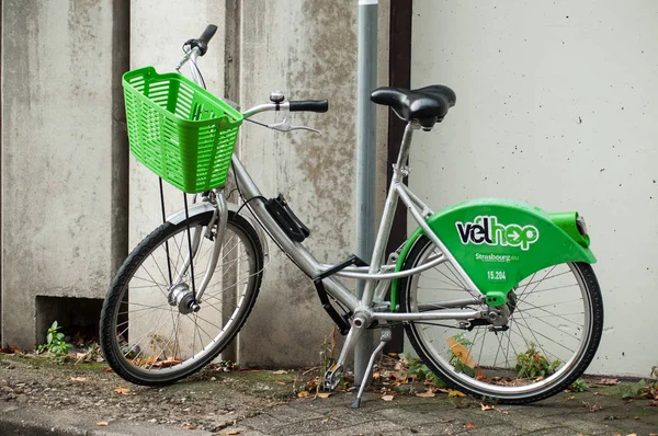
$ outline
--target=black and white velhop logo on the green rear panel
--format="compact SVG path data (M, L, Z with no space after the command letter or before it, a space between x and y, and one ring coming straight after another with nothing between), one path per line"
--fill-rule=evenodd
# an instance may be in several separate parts
M527 251L530 244L540 239L536 227L502 225L498 217L477 217L472 222L456 222L456 226L463 244L520 246Z

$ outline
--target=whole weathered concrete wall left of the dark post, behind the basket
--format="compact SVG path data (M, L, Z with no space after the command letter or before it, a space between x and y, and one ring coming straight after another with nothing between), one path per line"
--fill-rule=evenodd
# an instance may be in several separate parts
M379 82L386 84L388 2L381 3ZM146 65L172 70L182 43L208 23L219 26L201 61L211 91L243 107L273 90L330 100L329 113L293 118L324 136L245 124L238 152L263 194L282 192L311 228L308 246L319 260L339 262L353 252L358 2L68 0L4 1L2 8L3 341L24 347L38 341L36 296L102 298L128 248L161 222L157 177L126 154L118 78ZM378 204L385 122L382 108L373 169ZM167 213L182 207L181 195L167 188ZM316 364L332 324L310 280L270 248L239 360Z

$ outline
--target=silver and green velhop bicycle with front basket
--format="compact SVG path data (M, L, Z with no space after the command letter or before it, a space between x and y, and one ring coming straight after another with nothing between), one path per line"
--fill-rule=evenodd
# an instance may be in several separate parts
M188 41L185 56L177 66L179 71L190 61L194 81L202 87L196 61L215 28L208 26L200 38ZM160 77L148 68L136 70L141 76L126 73L124 81L143 94L149 87L145 77L178 76L183 80L180 87L186 83L181 74ZM202 87L194 92L202 92ZM169 92L151 88L151 100ZM183 100L196 99L190 95ZM168 104L143 100L140 105L161 111ZM406 162L412 134L431 130L455 100L455 93L443 85L379 88L372 93L373 102L390 106L407 126L368 263L355 255L337 264L318 262L302 244L309 230L283 196L268 199L261 195L229 144L224 153L228 158L222 159L230 162L240 204L226 199L227 175L222 171L228 171L228 163L219 170L220 183L215 186L208 187L207 181L202 187L182 186L184 192L197 193L193 205L185 204L146 237L107 290L100 337L110 366L131 382L158 386L216 359L256 302L265 267L266 233L311 278L322 307L347 334L337 363L324 375L325 389L340 383L347 356L363 332L381 329L382 341L363 377L367 380L396 324L405 325L413 349L438 377L474 397L522 404L570 386L591 363L603 325L601 290L590 266L595 257L585 219L577 213L547 214L519 202L491 198L434 213L402 183L409 173ZM203 107L192 111L192 119L212 117L213 111ZM232 129L230 136L237 135L242 117L262 112L327 110L327 101L285 101L275 92L269 103L242 113L224 106L226 119L220 123ZM131 126L128 115L133 148L138 127ZM313 130L287 122L262 125L282 131ZM220 129L213 128L215 133ZM167 138L154 140L160 141L158 147L175 142ZM419 227L386 255L398 199ZM341 277L365 282L361 299Z

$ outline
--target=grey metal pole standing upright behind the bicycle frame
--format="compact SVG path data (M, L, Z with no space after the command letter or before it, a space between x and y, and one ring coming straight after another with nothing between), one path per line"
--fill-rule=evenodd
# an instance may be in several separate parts
M368 261L375 243L375 105L370 94L377 83L377 10L378 0L359 0L359 64L356 111L356 255ZM359 283L356 295L363 296ZM354 348L354 382L362 380L373 351L373 333L366 331Z

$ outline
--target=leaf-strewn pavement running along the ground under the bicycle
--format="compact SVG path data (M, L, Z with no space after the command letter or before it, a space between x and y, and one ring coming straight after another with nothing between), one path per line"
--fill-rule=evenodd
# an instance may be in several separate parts
M395 393L385 401L382 392L371 390L361 408L352 409L353 391L297 398L290 374L205 374L164 389L131 386L131 397L116 393L118 377L99 375L98 368L22 367L13 360L0 359L4 365L0 365L0 393L9 392L0 397L1 436L658 435L658 406L645 398L623 399L623 383L592 381L586 392L488 410L474 399L446 393L434 398ZM53 391L57 395L48 397ZM66 397L75 391L80 399L91 400L53 402L61 399L63 391ZM186 421L177 418L193 413ZM195 424L207 423L215 414L214 427ZM109 418L99 421L103 416Z

